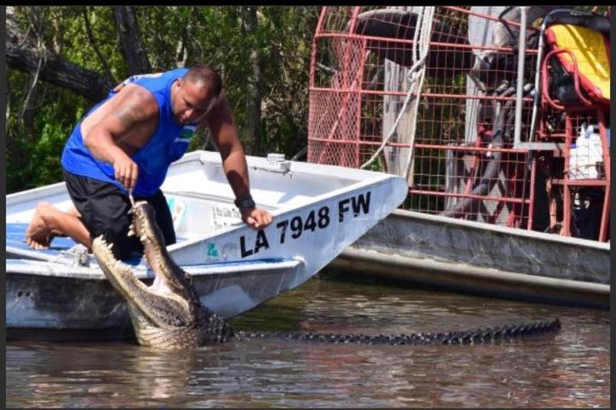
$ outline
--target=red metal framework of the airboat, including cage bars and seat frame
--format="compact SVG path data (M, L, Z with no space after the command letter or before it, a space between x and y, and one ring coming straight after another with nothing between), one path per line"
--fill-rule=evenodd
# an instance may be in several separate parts
M391 107L401 106L408 90L402 87L402 80L395 84L395 75L405 75L402 66L396 65L396 56L400 61L407 57L413 44L412 30L402 26L402 20L394 20L392 13L365 13L374 7L323 7L318 19L314 36L314 48L310 63L310 109L309 109L309 145L308 160L320 164L360 167L372 156L389 134L392 118L397 111ZM401 9L399 7L399 9ZM380 13L380 11L379 11ZM357 28L362 23L375 23L379 15L380 23L398 25L397 33L404 37L381 37L374 33L359 33ZM572 217L572 189L581 186L598 186L605 189L601 229L599 240L609 238L609 151L606 140L606 119L604 107L588 100L580 92L580 79L577 61L570 50L549 51L541 61L539 126L537 141L564 143L562 152L529 151L513 147L513 138L498 141L493 146L496 131L495 117L498 107L515 104L514 93L469 92L467 68L459 68L455 61L463 61L468 51L485 52L490 55L514 55L514 64L496 65L488 70L487 76L493 81L509 79L509 85L515 86L517 79L517 41L512 47L470 44L460 41L468 39L469 18L500 22L495 15L473 12L467 7L436 7L433 27L434 39L453 38L452 42L431 41L426 80L419 91L419 108L415 119L416 135L413 144L413 174L409 179L409 209L426 213L446 213L445 207L464 205L461 218L483 220L487 223L502 224L511 227L533 229L537 189L537 159L551 162L548 175L549 184L564 191L562 212L562 234L570 235ZM364 20L362 20L364 19ZM374 20L370 20L374 19ZM519 23L508 22L512 28L519 28ZM437 27L440 27L437 33ZM409 31L410 30L410 31ZM449 31L447 31L449 30ZM529 27L527 31L537 30ZM408 34L411 33L411 34ZM437 37L434 37L437 33ZM438 37L440 35L440 37ZM449 37L447 37L449 36ZM457 39L457 40L456 40ZM458 42L456 42L458 41ZM466 53L466 54L465 54ZM549 95L549 61L561 53L568 53L573 61L573 82L575 92L582 103L580 106L563 106ZM486 54L486 55L487 55ZM525 50L528 61L536 61L537 49ZM394 60L384 60L382 56ZM393 57L392 57L393 56ZM400 58L402 56L402 58ZM386 66L385 61L389 61ZM454 63L452 63L452 61ZM330 71L317 71L317 63L330 66ZM500 63L499 63L500 64ZM525 69L534 65L525 65ZM333 67L333 68L332 68ZM387 69L394 67L394 74L387 74ZM460 66L461 67L461 66ZM407 67L408 68L408 67ZM386 74L384 74L386 73ZM445 73L440 74L439 73ZM389 75L389 77L387 77ZM449 77L448 77L449 75ZM490 77L492 76L492 77ZM535 73L525 72L525 81L534 79ZM386 85L387 78L389 83ZM488 81L488 80L486 80ZM496 85L492 86L496 89ZM476 102L472 102L476 101ZM510 102L511 101L511 102ZM530 115L534 99L529 95L522 98L522 135L528 135ZM474 105L473 105L474 104ZM469 136L466 124L466 111L474 107L477 111L476 138ZM590 113L590 114L589 114ZM564 127L556 129L547 126L549 116L565 116ZM407 114L411 115L411 114ZM570 146L576 136L577 127L588 116L596 117L599 124L606 168L604 179L589 181L570 179L567 170L570 167ZM400 121L400 124L404 120ZM379 159L381 165L376 169L391 171L395 165L395 152L410 148L411 144L402 136L407 132L405 125L398 125L396 133L387 143L387 150ZM594 119L593 119L594 124ZM389 125L390 128L387 128ZM508 128L510 131L511 128ZM513 133L512 133L513 135ZM496 157L495 157L496 156ZM564 158L564 167L562 160ZM495 159L496 158L496 159ZM498 163L496 163L498 160ZM496 176L486 173L492 161L498 165ZM561 161L561 162L559 162ZM392 165L394 164L394 165ZM561 165L558 165L561 164ZM401 168L401 167L399 167ZM373 168L374 169L374 168ZM411 178L411 177L410 177ZM487 188L477 190L484 183ZM487 193L485 193L487 189ZM480 192L477 194L476 192ZM476 201L468 206L464 201ZM445 205L448 204L448 205ZM452 205L453 204L453 205ZM460 205L460 206L462 206ZM551 219L556 218L556 204L551 201L548 209ZM543 210L539 210L543 211Z

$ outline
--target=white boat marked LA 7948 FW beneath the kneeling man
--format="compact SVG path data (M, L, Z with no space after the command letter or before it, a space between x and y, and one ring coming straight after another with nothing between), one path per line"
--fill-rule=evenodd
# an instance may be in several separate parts
M225 318L258 306L317 274L402 203L399 176L285 160L247 157L251 193L274 221L260 231L241 222L217 152L194 151L169 168L162 186L174 218L171 257L193 275L201 302ZM6 197L7 336L33 330L132 333L123 299L91 254L68 238L31 250L25 229L36 204L72 203L64 183ZM152 281L145 258L137 277Z

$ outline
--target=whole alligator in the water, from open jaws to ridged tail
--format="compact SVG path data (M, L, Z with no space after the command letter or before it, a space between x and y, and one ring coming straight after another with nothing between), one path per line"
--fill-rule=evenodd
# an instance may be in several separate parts
M495 342L510 337L556 331L558 318L496 328L447 333L418 333L368 336L363 334L319 333L250 333L234 332L222 317L203 306L192 286L192 279L171 259L164 246L163 235L156 224L155 213L147 202L136 202L129 235L137 235L144 245L145 258L155 273L147 286L131 267L116 260L112 244L102 236L92 241L92 251L109 282L126 299L129 316L140 345L166 349L194 348L201 345L256 337L283 337L298 341L362 344L474 344Z

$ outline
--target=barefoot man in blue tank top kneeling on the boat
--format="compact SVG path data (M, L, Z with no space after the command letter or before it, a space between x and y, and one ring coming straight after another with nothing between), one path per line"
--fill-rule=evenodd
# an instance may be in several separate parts
M221 77L208 66L132 76L111 90L75 125L62 153L62 173L75 209L63 212L39 203L26 230L26 243L48 248L67 235L91 250L105 235L118 259L139 250L128 237L129 193L147 200L166 245L176 242L171 213L160 190L169 164L179 159L197 125L207 125L240 208L254 229L272 222L250 196L248 167L224 93Z

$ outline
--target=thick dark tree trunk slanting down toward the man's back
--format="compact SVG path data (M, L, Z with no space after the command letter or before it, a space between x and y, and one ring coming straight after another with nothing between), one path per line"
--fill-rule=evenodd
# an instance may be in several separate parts
M89 100L99 101L107 97L113 84L94 71L69 63L60 55L47 49L38 49L28 41L13 17L12 7L6 13L6 59L10 68L35 74L54 85L69 89ZM40 68L39 68L40 63Z

